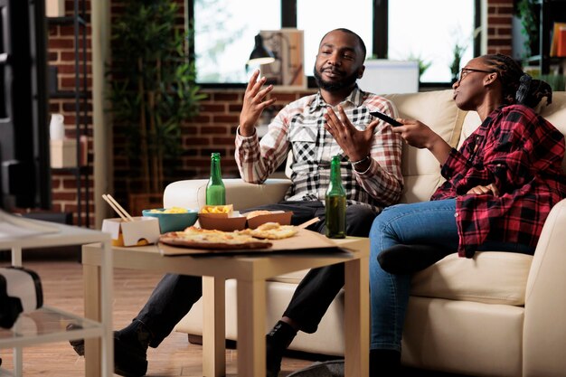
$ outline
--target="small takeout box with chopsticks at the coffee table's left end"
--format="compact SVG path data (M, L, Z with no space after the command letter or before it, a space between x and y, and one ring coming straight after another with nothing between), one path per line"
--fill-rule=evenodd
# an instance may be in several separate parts
M156 217L134 217L134 221L104 219L102 231L110 233L113 246L141 246L159 240L159 221Z

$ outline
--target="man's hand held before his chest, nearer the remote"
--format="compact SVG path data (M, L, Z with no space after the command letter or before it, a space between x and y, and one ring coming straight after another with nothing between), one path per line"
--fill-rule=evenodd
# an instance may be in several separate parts
M338 114L327 108L325 129L332 135L338 146L342 148L351 161L359 161L370 155L373 143L373 130L379 120L374 120L363 131L360 131L346 117L344 108L338 106Z

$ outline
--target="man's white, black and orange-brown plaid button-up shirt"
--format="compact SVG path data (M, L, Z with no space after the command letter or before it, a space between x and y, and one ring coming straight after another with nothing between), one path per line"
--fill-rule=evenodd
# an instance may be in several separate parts
M369 113L380 110L393 118L397 109L388 99L365 93L357 86L341 102L354 127L365 129L375 118ZM370 167L358 173L349 163L334 137L325 130L329 105L320 92L288 104L269 124L266 136L259 142L257 134L236 136L236 162L244 181L261 184L293 151L291 187L288 201L325 201L330 179L330 160L341 156L342 183L348 204L370 205L375 210L397 203L401 196L401 137L391 126L381 122L373 134Z

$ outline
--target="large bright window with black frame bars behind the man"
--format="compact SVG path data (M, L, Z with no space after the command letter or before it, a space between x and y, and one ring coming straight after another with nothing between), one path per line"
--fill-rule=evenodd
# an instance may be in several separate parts
M460 66L479 54L480 0L187 0L194 24L197 82L243 84L246 61L260 30L297 27L305 32L305 71L312 75L324 33L345 27L365 42L368 58L430 63L421 82L452 79L454 48ZM439 9L442 14L439 16ZM458 71L456 69L455 71Z

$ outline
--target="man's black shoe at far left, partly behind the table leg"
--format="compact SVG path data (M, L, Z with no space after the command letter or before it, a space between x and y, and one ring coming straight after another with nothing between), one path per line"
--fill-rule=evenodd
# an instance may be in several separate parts
M141 324L141 323L139 323ZM124 330L114 332L114 372L125 377L140 377L147 372L147 347L150 335L143 325L130 325ZM67 330L80 328L79 325L67 325ZM132 332L132 330L134 330ZM84 339L71 340L72 348L84 356Z

